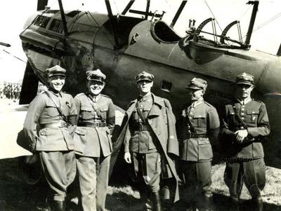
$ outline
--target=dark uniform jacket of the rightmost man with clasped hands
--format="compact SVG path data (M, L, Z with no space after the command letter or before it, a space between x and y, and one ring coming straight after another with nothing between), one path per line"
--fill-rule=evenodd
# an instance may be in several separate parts
M241 121L235 117L240 116L247 125L244 128ZM240 144L235 140L234 132L237 130L248 130L248 136ZM226 105L226 112L223 116L223 128L221 130L221 141L225 156L233 158L263 158L262 137L270 133L270 125L266 104L261 101L250 100L246 104L236 101Z

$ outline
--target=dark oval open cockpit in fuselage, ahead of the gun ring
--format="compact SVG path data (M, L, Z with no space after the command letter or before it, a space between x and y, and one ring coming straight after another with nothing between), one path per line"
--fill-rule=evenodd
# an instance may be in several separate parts
M174 29L166 25L166 22L157 20L152 24L151 34L154 39L163 43L176 43L181 39Z

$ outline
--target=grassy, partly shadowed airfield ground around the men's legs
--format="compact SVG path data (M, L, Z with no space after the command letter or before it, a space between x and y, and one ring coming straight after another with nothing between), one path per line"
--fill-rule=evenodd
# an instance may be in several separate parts
M0 107L16 103L1 99ZM1 130L3 129L5 128L1 128ZM1 142L3 141L1 140ZM212 167L213 183L211 188L214 192L214 208L218 211L229 210L228 189L223 182L224 168L224 163ZM180 189L183 189L183 186ZM18 158L0 159L0 211L48 211L45 201L47 190L48 186L44 181L36 186L25 184L18 165ZM79 184L77 180L70 186L68 192L67 210L78 211ZM262 195L263 210L281 210L281 169L266 167L266 187L262 191ZM241 210L249 210L249 207L247 207L249 198L247 189L243 187ZM111 182L107 189L106 208L112 211L141 211L143 210L143 201L141 201L139 192L129 186L129 181L115 181ZM173 210L184 210L181 202L176 203Z

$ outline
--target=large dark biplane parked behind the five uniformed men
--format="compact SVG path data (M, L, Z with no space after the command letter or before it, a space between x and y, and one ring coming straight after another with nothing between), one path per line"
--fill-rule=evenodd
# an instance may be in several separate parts
M20 34L27 56L18 111L37 94L38 82L46 83L46 69L60 64L67 69L65 90L72 95L85 91L85 73L100 68L107 75L105 94L112 97L118 111L136 97L134 76L143 70L155 75L152 92L167 98L176 116L187 102L187 81L200 77L208 81L207 102L218 111L233 99L235 76L247 72L255 77L254 98L266 103L271 133L263 143L266 163L281 167L281 59L278 55L251 50L250 39L259 1L253 6L247 37L243 41L240 22L235 20L218 33L216 20L208 18L198 27L190 20L185 36L174 30L187 1L181 1L171 23L162 20L164 12L150 11L150 0L143 11L132 9L135 1L117 15L105 0L107 14L88 11L64 11L46 7L38 1L34 13ZM128 13L139 17L132 17ZM211 32L204 29L211 25ZM237 28L239 39L229 36ZM280 52L280 50L279 50ZM113 156L122 144L115 143ZM27 151L16 156L29 155Z

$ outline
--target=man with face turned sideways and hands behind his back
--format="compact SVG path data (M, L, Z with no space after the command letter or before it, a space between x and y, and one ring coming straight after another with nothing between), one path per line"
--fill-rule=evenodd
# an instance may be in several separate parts
M216 109L203 98L207 81L194 78L187 89L191 104L183 107L179 123L181 172L185 181L183 200L188 209L211 210L211 144L218 137L220 121Z

